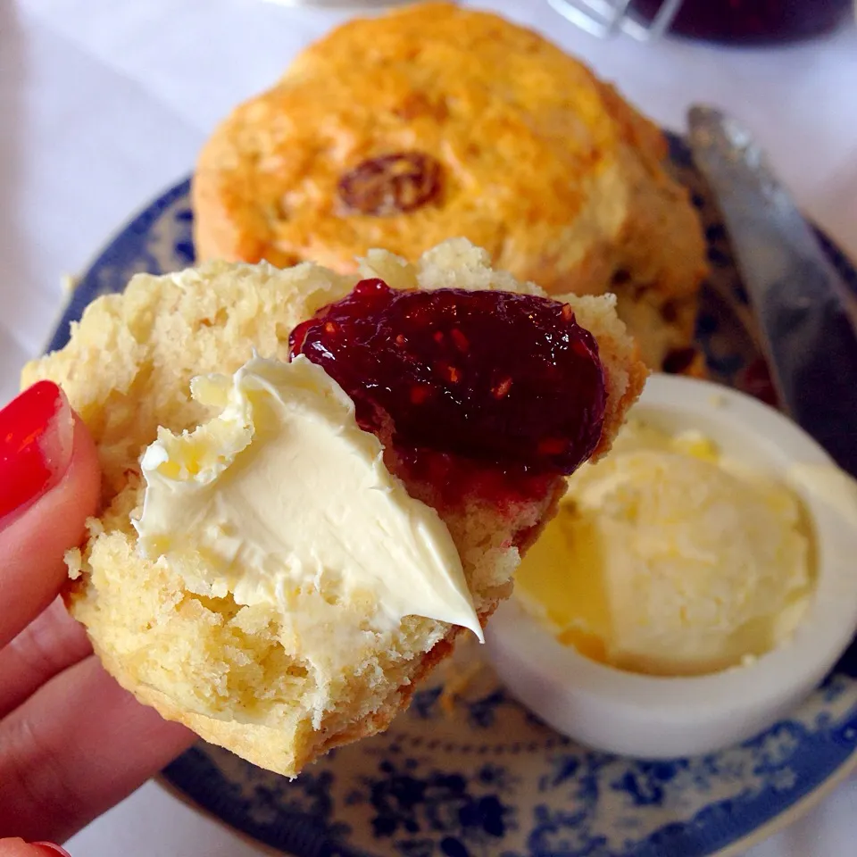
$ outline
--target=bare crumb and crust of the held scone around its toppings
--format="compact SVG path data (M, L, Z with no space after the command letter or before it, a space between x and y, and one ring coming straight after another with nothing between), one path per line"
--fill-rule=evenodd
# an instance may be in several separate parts
M492 270L487 254L463 240L438 246L416 264L373 251L360 271L398 288L540 294ZM330 747L386 728L460 629L406 617L395 631L363 635L333 667L327 658L302 660L275 607L190 591L167 562L137 552L131 519L139 517L145 491L139 460L158 426L180 432L212 415L190 397L194 376L233 372L254 349L287 359L295 325L343 297L357 279L311 263L277 270L210 262L162 277L141 274L123 294L91 304L69 345L30 363L22 379L24 385L42 378L59 383L96 440L102 509L89 521L86 545L67 557L73 582L65 597L107 670L163 716L287 776ZM638 395L645 368L612 296L570 303L598 339L605 367L602 453ZM395 473L392 450L385 460ZM511 591L520 550L553 514L564 481L554 480L532 502L503 509L467 498L441 508L431 485L410 481L406 487L437 505L484 622ZM357 608L342 609L343 620L352 621L347 611Z

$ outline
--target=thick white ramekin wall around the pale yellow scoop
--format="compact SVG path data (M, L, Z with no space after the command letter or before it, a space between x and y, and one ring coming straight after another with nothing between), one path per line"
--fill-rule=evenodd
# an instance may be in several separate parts
M814 536L816 587L793 637L746 666L707 676L637 675L590 661L517 603L487 628L487 651L513 695L583 744L642 758L707 753L761 732L817 686L857 628L857 483L791 420L709 382L654 375L635 415L696 428L726 455L785 479Z

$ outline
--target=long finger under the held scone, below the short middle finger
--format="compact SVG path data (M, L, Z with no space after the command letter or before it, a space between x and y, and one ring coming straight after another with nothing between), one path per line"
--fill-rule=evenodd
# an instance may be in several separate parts
M62 842L194 739L90 655L0 721L0 829Z

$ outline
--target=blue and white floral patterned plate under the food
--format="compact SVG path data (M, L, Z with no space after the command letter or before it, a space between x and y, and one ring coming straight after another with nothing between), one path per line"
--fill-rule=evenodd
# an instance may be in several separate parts
M700 209L711 280L699 345L711 376L759 391L765 371L744 288L686 147L671 158ZM189 183L155 200L81 279L51 347L96 295L138 271L194 261ZM822 241L857 289L857 272ZM456 689L457 688L457 689ZM386 734L294 782L199 744L163 777L204 811L295 857L703 857L736 854L857 765L857 645L788 720L744 745L643 762L595 753L539 722L465 645Z

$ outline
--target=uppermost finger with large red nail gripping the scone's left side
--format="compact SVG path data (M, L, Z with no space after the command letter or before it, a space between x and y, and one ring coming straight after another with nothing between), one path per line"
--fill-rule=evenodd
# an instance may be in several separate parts
M92 438L53 382L0 411L0 648L56 597L99 489Z

